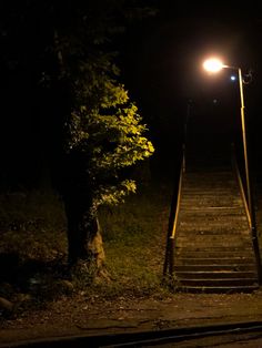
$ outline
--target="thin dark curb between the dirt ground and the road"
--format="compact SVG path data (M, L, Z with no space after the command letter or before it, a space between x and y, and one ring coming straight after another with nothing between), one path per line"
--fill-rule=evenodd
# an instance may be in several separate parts
M53 337L20 342L0 344L0 348L46 348L46 347L139 347L141 345L157 345L178 342L206 336L223 334L244 334L262 330L262 321L240 321L231 324L181 327L163 330L144 330L124 334L78 335L70 337Z

